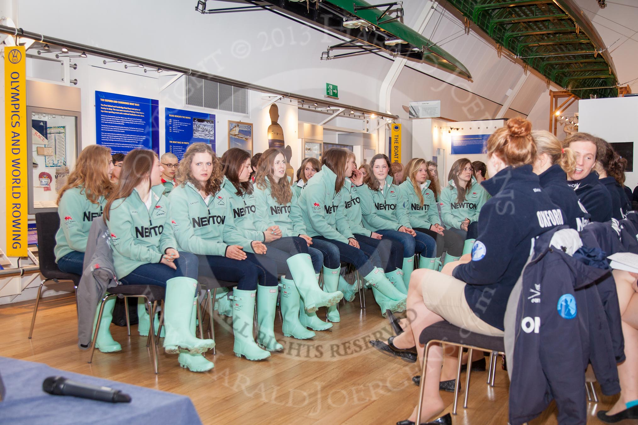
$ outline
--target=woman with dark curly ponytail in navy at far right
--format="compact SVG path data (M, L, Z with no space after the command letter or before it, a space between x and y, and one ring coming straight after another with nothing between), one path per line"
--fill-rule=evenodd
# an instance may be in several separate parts
M631 204L627 199L627 195L623 189L625 183L625 168L627 168L627 159L621 158L616 154L611 145L602 139L597 140L598 159L594 169L600 178L600 183L611 194L611 203L613 206L612 217L616 220L622 220L631 210Z

